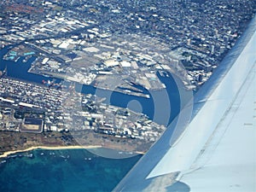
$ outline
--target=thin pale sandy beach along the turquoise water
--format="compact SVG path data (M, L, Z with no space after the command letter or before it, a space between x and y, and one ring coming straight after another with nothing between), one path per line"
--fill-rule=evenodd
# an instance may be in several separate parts
M20 152L31 151L31 150L38 149L38 148L49 149L49 150L59 150L59 149L75 149L75 148L84 148L84 149L86 149L86 148L87 149L88 148L102 148L102 146L100 146L100 145L89 145L89 146L76 145L76 146L59 146L59 147L36 146L36 147L31 147L31 148L26 148L26 149L21 149L21 150L7 151L7 152L4 152L3 154L1 154L0 158L8 157L9 154L16 154L16 153L20 153Z

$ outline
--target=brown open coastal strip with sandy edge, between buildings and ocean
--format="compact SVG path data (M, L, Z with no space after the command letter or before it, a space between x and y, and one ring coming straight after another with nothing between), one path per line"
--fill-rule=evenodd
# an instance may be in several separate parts
M20 152L26 152L31 151L34 149L49 149L49 150L60 150L60 149L75 149L75 148L81 148L81 149L89 149L89 148L113 148L119 151L135 151L135 148L131 149L131 146L125 148L125 145L119 144L113 144L112 146L108 146L108 144L96 145L96 143L92 143L93 145L90 145L89 143L85 145L81 145L79 143L76 143L75 141L71 143L64 143L61 137L63 137L63 134L60 133L48 133L42 135L38 134L26 134L26 133L15 133L15 134L9 134L9 132L3 132L1 131L1 149L0 149L0 159L6 158L10 154L17 154ZM66 135L66 137L68 137ZM70 136L69 136L70 137ZM9 139L10 138L10 139ZM10 141L13 141L13 143L9 143ZM26 141L26 142L25 142ZM20 144L22 143L22 144ZM19 146L19 147L18 147ZM143 154L146 151L135 151L137 154Z

